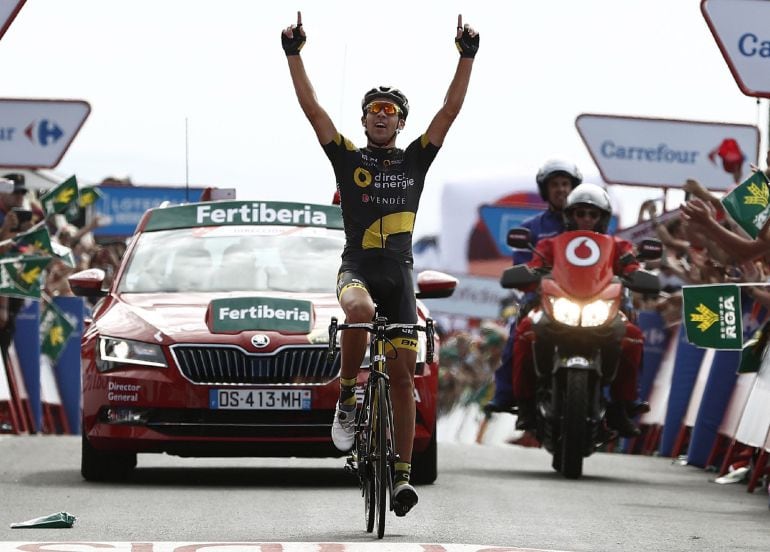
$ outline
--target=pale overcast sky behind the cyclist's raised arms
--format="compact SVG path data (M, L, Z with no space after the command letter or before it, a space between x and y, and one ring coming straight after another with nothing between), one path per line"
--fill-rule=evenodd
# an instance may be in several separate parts
M130 176L183 185L187 119L191 185L235 187L241 199L325 203L333 173L294 96L281 29L302 11L302 56L319 101L358 145L363 92L401 88L411 105L406 146L443 101L462 13L481 48L462 113L426 181L419 235L438 225L444 182L521 180L551 157L598 175L575 129L581 113L766 126L767 105L760 110L740 92L699 5L28 0L0 41L2 94L90 103L56 169L81 182ZM628 194L622 222L632 222L639 197L656 194Z

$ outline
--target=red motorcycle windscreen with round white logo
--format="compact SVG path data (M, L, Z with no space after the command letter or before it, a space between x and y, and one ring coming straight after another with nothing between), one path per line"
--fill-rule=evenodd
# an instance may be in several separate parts
M578 298L593 297L606 288L614 273L615 241L596 232L564 232L553 238L551 277Z

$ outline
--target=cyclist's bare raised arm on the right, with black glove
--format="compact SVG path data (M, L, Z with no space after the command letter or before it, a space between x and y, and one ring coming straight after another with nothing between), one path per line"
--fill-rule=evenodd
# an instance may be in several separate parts
M465 93L468 90L468 83L471 79L471 69L473 68L473 58L479 49L479 34L468 24L463 25L463 16L457 16L457 35L455 36L455 45L460 51L460 60L457 62L454 78L449 85L444 105L441 106L438 113L428 126L426 135L428 140L434 146L441 146L449 127L460 113L460 108L465 100Z

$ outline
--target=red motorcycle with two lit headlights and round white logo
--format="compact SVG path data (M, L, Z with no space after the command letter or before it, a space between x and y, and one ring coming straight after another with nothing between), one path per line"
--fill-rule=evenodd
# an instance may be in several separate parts
M535 333L537 438L553 455L553 468L577 479L583 458L607 441L602 389L615 378L620 359L624 288L657 294L660 281L645 270L616 276L611 236L569 231L553 241L553 266L510 267L500 284L523 289L539 284L539 306L527 314ZM527 228L510 230L508 245L539 255ZM662 246L646 239L638 251L639 260L657 259Z

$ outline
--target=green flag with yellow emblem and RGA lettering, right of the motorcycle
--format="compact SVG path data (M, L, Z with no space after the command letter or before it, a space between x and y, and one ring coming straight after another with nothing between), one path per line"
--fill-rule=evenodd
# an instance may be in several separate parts
M743 349L741 292L735 284L682 286L687 341L705 349Z

